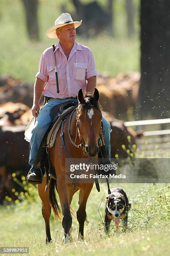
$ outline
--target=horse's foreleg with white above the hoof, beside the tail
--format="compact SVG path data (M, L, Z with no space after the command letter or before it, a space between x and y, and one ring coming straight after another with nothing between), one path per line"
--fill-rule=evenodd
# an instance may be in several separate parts
M67 243L70 239L70 228L72 224L72 217L70 212L69 202L69 190L70 188L63 182L63 179L58 177L57 179L57 191L60 199L60 204L63 212L62 225L64 229L64 242Z

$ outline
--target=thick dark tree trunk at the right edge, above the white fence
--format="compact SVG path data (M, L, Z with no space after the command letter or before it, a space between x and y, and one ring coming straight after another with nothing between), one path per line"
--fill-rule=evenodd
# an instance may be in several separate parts
M141 0L140 113L170 117L170 2Z

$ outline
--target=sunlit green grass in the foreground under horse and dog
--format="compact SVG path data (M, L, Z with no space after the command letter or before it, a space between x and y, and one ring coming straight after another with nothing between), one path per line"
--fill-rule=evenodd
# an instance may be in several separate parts
M53 243L45 244L45 224L41 215L41 200L36 196L36 188L30 186L31 196L26 195L23 202L15 205L6 201L0 207L1 232L0 247L26 246L31 255L168 255L170 250L170 187L167 184L112 184L122 186L127 192L133 207L129 212L129 230L126 234L115 233L105 236L103 226L104 199L107 185L101 184L101 192L93 188L87 203L85 222L85 242L77 241L78 223L73 218L73 243L62 243L61 222L54 222L51 215L51 234ZM33 200L34 198L34 200ZM76 212L78 193L72 202ZM113 223L112 223L113 224Z

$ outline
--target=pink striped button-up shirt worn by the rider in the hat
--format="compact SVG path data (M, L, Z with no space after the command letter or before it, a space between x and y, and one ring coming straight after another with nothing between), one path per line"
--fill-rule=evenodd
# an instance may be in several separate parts
M60 93L56 89L53 48L50 47L41 55L39 71L36 74L36 77L47 82L43 95L59 99L76 97L81 88L83 92L86 91L86 79L98 75L94 56L88 47L76 41L68 60L59 42L55 48Z

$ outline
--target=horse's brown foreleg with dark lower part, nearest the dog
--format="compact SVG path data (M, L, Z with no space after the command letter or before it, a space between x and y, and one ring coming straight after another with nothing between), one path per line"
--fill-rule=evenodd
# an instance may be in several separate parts
M79 192L79 209L77 211L77 220L79 221L79 237L78 240L84 239L84 222L86 220L86 203L90 195L93 184L85 184L80 188Z

